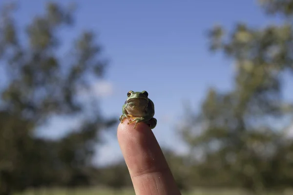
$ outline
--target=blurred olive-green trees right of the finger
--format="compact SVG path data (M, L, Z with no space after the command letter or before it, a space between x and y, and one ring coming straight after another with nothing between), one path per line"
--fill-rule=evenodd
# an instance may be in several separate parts
M293 186L293 138L287 137L293 105L282 96L293 72L293 0L260 0L280 24L239 22L228 33L209 31L212 52L233 60L233 89L210 89L199 113L187 112L181 133L193 151L193 185L243 187L254 192ZM290 124L292 125L292 124ZM197 158L197 155L200 158Z

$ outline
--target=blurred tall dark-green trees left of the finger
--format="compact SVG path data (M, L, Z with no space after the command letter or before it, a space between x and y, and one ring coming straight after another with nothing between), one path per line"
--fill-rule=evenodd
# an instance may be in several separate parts
M48 2L45 13L24 28L14 4L1 6L0 195L30 186L88 185L98 133L116 120L93 106L91 117L60 140L38 138L35 130L49 117L88 112L78 95L89 78L105 74L102 48L87 31L63 52L61 32L74 27L72 6Z

